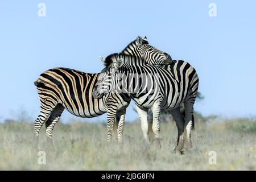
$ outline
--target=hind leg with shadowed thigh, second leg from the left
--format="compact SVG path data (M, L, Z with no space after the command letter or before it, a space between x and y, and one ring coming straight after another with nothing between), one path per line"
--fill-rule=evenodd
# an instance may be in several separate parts
M46 136L47 143L52 146L52 130L55 124L59 121L60 115L63 113L65 107L61 104L58 104L52 111L49 119L46 122Z

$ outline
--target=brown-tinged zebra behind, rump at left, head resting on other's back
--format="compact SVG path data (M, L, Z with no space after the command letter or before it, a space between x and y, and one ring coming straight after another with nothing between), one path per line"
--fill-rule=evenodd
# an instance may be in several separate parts
M122 52L130 55L144 56L151 64L171 64L171 56L150 46L147 38L138 36ZM152 56L150 56L152 55ZM103 60L103 59L102 59ZM123 122L130 96L123 93L107 94L101 99L93 97L93 88L99 73L84 73L68 68L53 68L43 72L34 82L40 98L40 113L34 122L35 142L37 145L39 131L46 123L48 143L52 144L52 131L59 121L64 109L82 118L97 117L107 113L107 138L112 137L115 118L118 123L118 141L122 142Z

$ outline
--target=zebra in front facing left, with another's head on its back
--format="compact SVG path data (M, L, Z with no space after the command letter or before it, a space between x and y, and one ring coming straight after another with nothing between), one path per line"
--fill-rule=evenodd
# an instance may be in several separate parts
M184 132L187 133L188 147L191 147L193 105L199 78L189 63L174 60L168 65L151 65L139 57L116 53L106 57L104 65L93 91L96 98L113 91L130 94L141 119L143 137L148 144L148 109L153 113L152 130L159 144L160 112L170 110L178 130L175 152L184 152ZM129 88L130 85L133 88ZM183 103L185 118L179 110L179 105Z

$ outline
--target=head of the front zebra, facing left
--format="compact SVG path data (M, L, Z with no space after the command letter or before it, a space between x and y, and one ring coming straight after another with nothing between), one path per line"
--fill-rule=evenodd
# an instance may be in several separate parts
M104 60L102 60L104 61ZM98 81L93 88L93 97L102 98L108 93L113 92L118 86L118 69L122 67L123 59L119 58L114 63L108 65L108 67L102 69L98 75Z

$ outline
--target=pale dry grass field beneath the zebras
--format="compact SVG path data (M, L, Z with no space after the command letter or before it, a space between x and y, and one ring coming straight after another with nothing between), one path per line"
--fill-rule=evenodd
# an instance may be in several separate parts
M221 119L217 119L221 120ZM123 145L105 142L105 123L72 121L57 123L54 148L46 147L45 129L39 149L31 146L33 125L27 122L0 124L1 170L255 170L256 122L233 119L196 123L193 148L185 155L174 154L175 123L161 123L162 148L144 146L139 122L126 123ZM38 163L46 151L46 164ZM216 164L209 164L210 151Z

